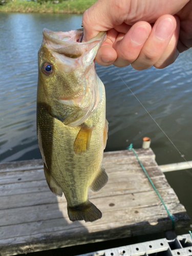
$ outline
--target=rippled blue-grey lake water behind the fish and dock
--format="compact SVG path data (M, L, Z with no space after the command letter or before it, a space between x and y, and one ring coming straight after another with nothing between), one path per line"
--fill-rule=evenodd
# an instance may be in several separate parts
M36 88L42 29L77 29L81 19L81 15L71 14L0 13L0 161L41 158L36 139ZM158 164L184 161L118 73L181 154L192 160L192 50L180 54L163 70L99 65L96 70L106 90L106 151L124 150L130 143L141 147L147 136L152 139ZM192 218L192 171L167 173L166 178Z

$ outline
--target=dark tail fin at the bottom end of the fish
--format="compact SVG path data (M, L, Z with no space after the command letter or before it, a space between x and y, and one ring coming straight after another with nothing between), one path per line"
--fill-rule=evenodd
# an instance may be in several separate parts
M86 222L93 222L102 217L100 210L89 200L74 207L68 206L68 215L71 221L85 220Z

